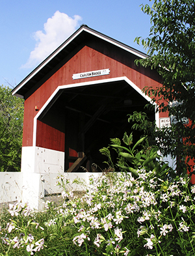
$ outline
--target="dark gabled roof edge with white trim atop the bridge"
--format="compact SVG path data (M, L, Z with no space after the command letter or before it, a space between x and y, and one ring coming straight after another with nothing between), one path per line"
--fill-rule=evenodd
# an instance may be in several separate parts
M51 53L42 63L40 63L32 72L23 79L13 90L12 95L19 96L23 98L25 93L27 93L38 81L44 78L55 66L57 66L60 61L62 61L70 52L76 48L83 40L86 40L88 36L96 36L101 40L105 40L110 44L118 46L125 51L133 53L141 59L147 57L146 54L141 51L135 50L126 44L122 44L118 40L114 40L109 36L103 35L94 29L91 29L87 25L81 25L75 33L73 33L66 41L64 41L59 48L57 48L53 53Z

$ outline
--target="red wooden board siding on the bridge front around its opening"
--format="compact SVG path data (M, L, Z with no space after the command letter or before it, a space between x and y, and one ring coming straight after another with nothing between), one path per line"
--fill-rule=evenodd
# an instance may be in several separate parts
M29 98L26 98L23 126L23 147L32 146L33 119L37 113L35 106L38 106L40 109L59 85L69 85L85 81L126 76L140 89L143 89L146 85L152 87L159 86L159 76L155 74L154 70L135 66L135 56L133 54L118 49L115 46L107 45L105 42L104 44L100 44L98 42L91 42L90 44L89 46L84 46L75 55L73 55L66 64L55 72L53 76L47 79L47 81L33 92ZM109 75L76 80L72 79L73 74L105 68L110 68ZM51 136L56 136L57 138L62 138L64 136L62 132L51 128L51 126L41 126L43 126L43 124L40 124L38 121L37 130L40 132L36 136L36 145L40 145L40 147L47 146L50 148L52 140L49 140L49 144L44 144L42 141L42 137L44 137L41 132L42 128L45 131L45 136L48 133L50 133ZM56 149L61 150L62 145L57 145Z

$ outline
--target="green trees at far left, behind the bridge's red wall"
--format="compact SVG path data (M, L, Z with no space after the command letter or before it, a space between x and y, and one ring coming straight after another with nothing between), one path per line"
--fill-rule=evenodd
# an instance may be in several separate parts
M0 171L20 171L23 100L0 87Z

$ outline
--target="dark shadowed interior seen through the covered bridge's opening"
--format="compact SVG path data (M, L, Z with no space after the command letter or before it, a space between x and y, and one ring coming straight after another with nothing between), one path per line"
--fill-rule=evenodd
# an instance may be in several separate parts
M108 147L110 138L122 140L131 133L127 115L144 111L151 121L155 113L147 111L147 100L125 81L63 89L40 115L39 120L65 133L65 170L101 171L107 161L99 149ZM134 142L140 134L133 132ZM114 150L113 150L114 154Z

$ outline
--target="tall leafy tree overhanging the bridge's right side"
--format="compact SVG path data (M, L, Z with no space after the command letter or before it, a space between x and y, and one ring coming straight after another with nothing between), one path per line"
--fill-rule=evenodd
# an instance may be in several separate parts
M151 16L150 34L146 39L136 38L148 49L148 58L136 64L155 68L162 77L162 87L146 86L144 91L159 104L158 111L175 117L170 128L157 130L155 135L163 154L180 157L178 167L186 156L195 158L195 1L149 2L142 5L142 11ZM183 123L186 118L188 125Z

